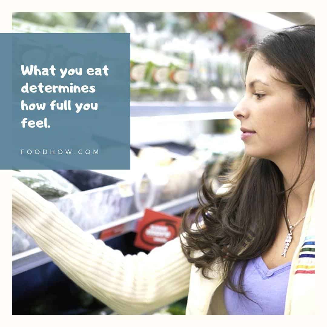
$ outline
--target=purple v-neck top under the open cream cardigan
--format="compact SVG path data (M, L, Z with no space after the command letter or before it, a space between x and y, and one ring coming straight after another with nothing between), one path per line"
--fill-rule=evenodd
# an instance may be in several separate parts
M262 257L250 259L245 270L243 287L251 300L224 285L224 302L229 315L284 315L286 290L291 262L268 269ZM233 273L237 283L238 263Z

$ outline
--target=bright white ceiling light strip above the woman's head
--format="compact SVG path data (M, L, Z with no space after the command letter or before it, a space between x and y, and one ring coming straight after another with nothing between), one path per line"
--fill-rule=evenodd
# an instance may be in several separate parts
M294 25L294 23L289 22L283 18L277 17L268 12L236 11L236 12L231 12L231 14L244 18L254 24L269 28L271 30Z

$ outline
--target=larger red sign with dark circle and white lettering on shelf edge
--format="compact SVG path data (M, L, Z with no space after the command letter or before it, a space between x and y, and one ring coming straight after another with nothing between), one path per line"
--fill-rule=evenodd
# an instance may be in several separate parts
M134 246L150 251L176 238L180 226L181 217L146 209L137 222Z

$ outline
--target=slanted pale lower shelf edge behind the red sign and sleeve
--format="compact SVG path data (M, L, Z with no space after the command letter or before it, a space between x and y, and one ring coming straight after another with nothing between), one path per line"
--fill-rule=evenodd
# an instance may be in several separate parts
M190 207L198 206L197 193L192 193L176 200L171 200L152 207L154 211L164 212L169 215L177 215ZM143 216L143 212L128 215L122 219L110 222L88 231L95 238L99 238L100 233L108 228L123 225L123 231L114 237L135 231L137 220ZM109 238L108 238L109 239ZM39 267L52 259L40 248L34 248L12 256L12 276L18 275L24 271Z

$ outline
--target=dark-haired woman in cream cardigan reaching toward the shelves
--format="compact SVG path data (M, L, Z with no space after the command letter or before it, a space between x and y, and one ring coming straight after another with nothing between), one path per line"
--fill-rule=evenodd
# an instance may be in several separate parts
M252 131L245 154L217 194L202 177L205 201L191 227L184 215L180 238L123 256L15 179L13 222L120 314L187 295L187 314L314 314L314 32L294 26L247 51L234 109Z

